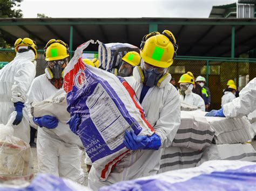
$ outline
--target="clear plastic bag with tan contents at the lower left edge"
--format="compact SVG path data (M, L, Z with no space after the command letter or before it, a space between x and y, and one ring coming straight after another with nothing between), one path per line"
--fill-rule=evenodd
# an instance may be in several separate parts
M10 115L6 125L0 124L0 181L31 180L33 158L30 145L14 137L14 122L17 112Z

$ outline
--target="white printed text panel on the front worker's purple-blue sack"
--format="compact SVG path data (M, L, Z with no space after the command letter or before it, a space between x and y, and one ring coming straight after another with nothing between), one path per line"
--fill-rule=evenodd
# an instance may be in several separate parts
M123 132L130 125L101 84L98 84L93 93L87 98L86 105L89 107L93 124L107 146L113 150L122 144Z

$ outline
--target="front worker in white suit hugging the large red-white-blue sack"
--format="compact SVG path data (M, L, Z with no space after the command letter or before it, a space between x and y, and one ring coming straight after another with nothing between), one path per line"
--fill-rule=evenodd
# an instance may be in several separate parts
M134 67L133 77L125 79L135 91L155 133L146 137L126 131L124 144L133 152L118 163L106 181L99 181L100 172L92 165L88 185L93 190L158 173L163 149L171 146L180 125L179 94L169 83L171 75L166 73L177 49L174 36L167 30L162 34L150 33L143 38L142 65ZM76 129L79 117L72 121L70 128Z

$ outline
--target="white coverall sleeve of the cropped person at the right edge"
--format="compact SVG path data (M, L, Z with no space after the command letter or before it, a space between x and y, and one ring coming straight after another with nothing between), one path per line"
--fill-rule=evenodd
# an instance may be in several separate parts
M223 113L228 118L248 115L252 121L252 129L256 133L256 78L253 78L239 92L239 97L224 105Z

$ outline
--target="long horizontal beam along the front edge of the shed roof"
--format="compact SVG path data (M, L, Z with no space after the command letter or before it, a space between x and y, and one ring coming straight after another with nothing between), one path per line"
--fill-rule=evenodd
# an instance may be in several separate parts
M1 19L0 19L1 20ZM256 20L253 22L246 21L224 21L224 22L211 22L211 21L158 21L158 25L255 25ZM0 26L18 26L18 25L149 25L150 21L56 21L56 22L0 22Z

